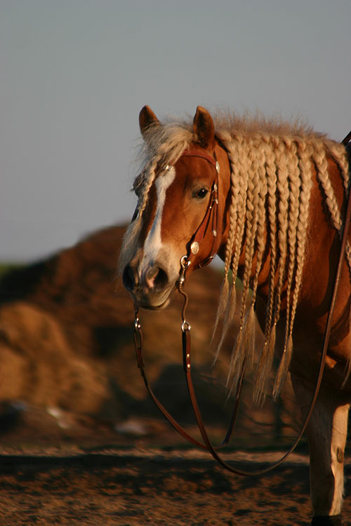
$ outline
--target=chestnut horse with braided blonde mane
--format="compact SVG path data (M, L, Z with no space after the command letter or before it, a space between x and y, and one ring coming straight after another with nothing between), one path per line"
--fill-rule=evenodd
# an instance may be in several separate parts
M136 306L164 309L179 283L218 255L224 279L215 330L240 326L228 389L264 335L253 396L274 397L290 374L301 414L314 392L350 187L345 145L298 121L197 107L194 119L139 115L143 145L133 189L138 204L119 269ZM213 211L214 210L214 211ZM351 234L340 271L319 396L307 424L312 525L341 525L347 414L351 402ZM184 272L183 272L184 274ZM184 278L183 278L184 279ZM274 384L274 356L279 367Z

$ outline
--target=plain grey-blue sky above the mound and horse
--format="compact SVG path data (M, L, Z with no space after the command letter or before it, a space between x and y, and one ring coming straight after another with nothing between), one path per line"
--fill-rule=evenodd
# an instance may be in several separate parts
M130 220L138 114L351 129L350 0L0 0L0 262Z

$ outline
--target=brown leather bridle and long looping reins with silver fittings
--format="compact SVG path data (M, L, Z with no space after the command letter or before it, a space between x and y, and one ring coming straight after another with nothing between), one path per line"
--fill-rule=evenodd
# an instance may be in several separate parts
M350 133L345 137L345 139L342 141L342 144L347 144L351 140L351 131ZM232 410L232 417L230 419L230 424L227 429L227 433L225 434L225 438L223 439L223 442L218 446L214 447L211 443L211 440L208 438L208 433L206 431L206 427L204 425L204 421L201 417L201 411L199 409L199 405L197 403L197 396L194 391L194 384L192 382L192 372L191 372L191 341L190 341L190 330L191 326L190 323L188 323L185 319L185 312L187 309L187 304L189 302L187 293L183 290L183 285L185 283L185 274L187 271L187 268L192 263L192 255L196 255L197 252L199 252L199 245L201 244L201 241L203 241L206 232L208 231L208 228L210 227L211 220L212 220L212 234L213 234L213 245L211 248L210 255L204 260L204 262L201 262L201 264L198 264L198 267L204 267L206 264L210 263L213 257L216 255L216 252L219 248L220 243L220 236L218 236L218 173L219 173L219 164L216 159L213 159L208 154L205 154L204 152L197 151L197 150L190 150L183 152L183 156L197 156L201 157L202 159L206 159L211 165L216 169L216 180L213 183L213 187L211 189L211 196L208 203L208 208L206 210L206 213L204 215L204 219L202 220L199 228L195 232L194 236L192 236L192 240L190 241L189 248L187 250L187 255L184 255L180 259L180 275L177 282L177 288L178 292L180 292L180 295L184 298L184 304L182 309L182 348L183 348L183 368L185 371L185 378L187 382L187 389L189 391L190 400L192 403L192 409L194 411L194 416L197 421L197 426L199 428L199 431L201 433L202 440L204 440L204 443L201 443L196 438L192 437L185 429L178 424L176 419L174 419L170 413L166 410L164 405L161 404L157 396L154 395L154 392L151 389L151 386L147 380L147 376L145 373L145 365L143 360L143 333L141 330L140 320L138 316L138 306L135 305L135 323L134 323L134 345L135 345L135 353L136 358L138 362L138 367L140 369L141 376L143 377L145 386L147 388L147 391L149 392L152 400L154 401L155 405L159 408L161 413L166 417L168 422L173 426L178 433L180 433L183 438L188 440L193 445L196 445L197 447L200 447L203 450L207 450L211 453L212 457L216 459L216 461L219 462L224 468L226 468L228 471L231 471L232 473L236 473L237 475L241 476L258 476L263 473L267 473L268 471L271 471L272 469L279 466L279 464L282 464L282 462L289 457L289 455L295 450L296 446L298 445L300 438L303 436L303 433L305 432L305 429L307 427L308 422L310 421L310 417L312 414L312 410L314 409L314 405L317 401L317 396L319 393L319 388L322 383L322 376L324 372L324 365L326 361L326 352L329 345L329 337L331 333L331 319L333 316L333 309L336 303L336 296L338 293L338 287L340 284L340 276L341 276L341 270L343 267L343 259L345 256L345 248L346 248L346 241L347 241L347 233L350 227L350 219L351 219L351 191L349 191L349 196L347 197L347 210L345 215L345 223L343 227L343 236L341 238L341 245L340 245L340 253L339 253L339 259L338 259L338 267L336 269L336 275L334 278L334 285L333 285L333 295L331 297L331 304L329 308L329 314L326 322L326 329L324 332L324 343L323 343L323 349L322 349L322 355L319 361L319 372L317 376L317 380L314 386L314 394L310 403L309 410L307 412L307 415L305 417L305 421L303 422L303 426L300 429L300 432L298 433L298 436L296 437L296 440L294 441L293 445L289 448L289 450L282 456L281 459L274 462L270 466L267 466L267 468L255 470L255 471L244 471L238 468L235 468L234 466L230 466L230 464L227 464L226 461L224 461L218 454L218 450L221 447L224 447L229 442L232 432L234 430L235 423L237 421L237 414L239 412L239 402L240 402L240 395L241 395L241 387L244 381L244 374L245 374L245 363L243 363L239 375L239 382L237 384L237 391L234 396L234 405Z

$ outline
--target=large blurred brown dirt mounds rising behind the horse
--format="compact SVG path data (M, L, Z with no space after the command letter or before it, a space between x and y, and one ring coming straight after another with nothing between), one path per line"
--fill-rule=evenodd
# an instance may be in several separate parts
M33 421L28 417L33 405L35 414L43 411L48 428L47 407L54 407L55 414L67 412L63 420L71 422L71 427L74 420L81 426L81 415L85 414L95 419L95 424L84 421L86 429L101 422L110 422L114 433L117 429L134 436L143 434L138 429L146 430L145 434L159 429L154 422L159 415L146 396L135 364L133 304L116 276L123 234L121 227L103 229L53 257L14 269L0 281L0 402L26 403L27 422ZM211 370L213 349L209 342L220 282L220 272L206 268L195 272L187 283L195 384L204 416L215 426L230 418L224 385L235 333L234 327ZM190 424L193 417L180 349L181 304L176 295L167 309L141 311L140 319L154 390L176 418ZM259 426L250 384L246 383L244 391L249 396L244 400L239 426L246 433L260 432L267 422L282 423L282 408L274 414L270 406L261 417L263 426ZM139 419L136 423L135 417ZM143 418L153 420L145 423ZM55 422L66 430L66 436L72 436L68 424L61 425L63 420L56 418ZM287 420L291 422L289 415ZM14 435L8 436L12 439Z

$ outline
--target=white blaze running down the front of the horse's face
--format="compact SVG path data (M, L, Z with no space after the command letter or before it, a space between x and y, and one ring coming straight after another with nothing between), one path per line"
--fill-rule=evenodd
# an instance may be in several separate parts
M161 241L161 223L162 213L164 211L164 201L166 200L166 191L171 186L174 178L176 177L176 169L174 166L168 168L164 175L160 175L155 180L156 192L157 192L157 208L154 217L152 227L147 234L144 243L144 264L152 264L157 258L159 250L162 247Z

